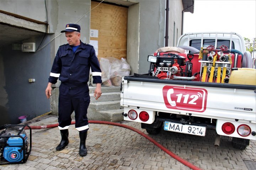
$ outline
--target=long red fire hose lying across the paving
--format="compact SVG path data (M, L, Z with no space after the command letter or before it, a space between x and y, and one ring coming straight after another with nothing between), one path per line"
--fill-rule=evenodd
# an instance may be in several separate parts
M165 153L169 154L172 158L176 159L178 162L182 163L183 165L186 165L188 168L191 168L193 170L201 170L200 168L198 168L197 166L191 164L190 162L187 162L186 160L182 159L181 157L179 157L178 155L174 154L173 152L169 151L166 147L162 146L160 143L156 142L153 138L149 137L148 135L146 135L145 133L143 133L142 131L133 128L132 126L128 126L125 124L120 124L120 123L114 123L114 122L108 122L108 121L98 121L98 120L89 120L89 123L94 123L94 124L106 124L106 125L114 125L114 126L120 126L122 128L126 128L126 129L130 129L132 131L137 132L138 134L144 136L146 139L148 139L150 142L154 143L157 147L159 147L160 149L162 149ZM71 122L71 125L74 125L75 121ZM52 124L52 125L43 125L43 126L30 126L31 129L47 129L47 128L55 128L57 127L59 124ZM26 127L25 129L28 129L28 127Z

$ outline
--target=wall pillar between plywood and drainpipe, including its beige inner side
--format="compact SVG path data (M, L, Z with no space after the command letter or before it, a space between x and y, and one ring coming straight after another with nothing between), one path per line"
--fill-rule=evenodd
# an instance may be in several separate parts
M128 8L127 62L133 73L148 73L148 55L164 46L164 0L134 0Z

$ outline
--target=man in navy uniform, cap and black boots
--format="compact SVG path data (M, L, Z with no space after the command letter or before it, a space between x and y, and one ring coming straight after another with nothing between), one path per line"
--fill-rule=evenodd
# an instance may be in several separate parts
M68 128L71 125L71 114L75 111L75 128L79 131L80 146L79 155L85 156L87 149L85 141L89 129L87 108L90 103L89 81L90 68L93 83L96 84L94 97L101 96L101 69L96 57L94 47L81 42L80 26L78 24L66 24L65 32L68 44L59 47L53 61L49 83L46 88L46 97L52 95L52 84L59 79L59 129L62 137L57 151L63 150L69 143Z

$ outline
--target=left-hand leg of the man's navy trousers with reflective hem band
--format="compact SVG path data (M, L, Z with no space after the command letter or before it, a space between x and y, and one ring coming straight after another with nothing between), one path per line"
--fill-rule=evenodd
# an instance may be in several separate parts
M69 96L69 89L62 84L59 86L59 129L68 129L71 125L71 114L74 111L74 107Z

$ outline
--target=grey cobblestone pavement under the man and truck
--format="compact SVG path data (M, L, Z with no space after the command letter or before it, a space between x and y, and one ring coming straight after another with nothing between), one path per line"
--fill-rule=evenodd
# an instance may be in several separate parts
M57 117L46 115L28 121L31 126L57 123ZM139 123L124 122L146 133ZM86 146L88 154L79 155L79 133L69 127L69 145L56 151L58 128L32 130L32 151L24 164L0 165L1 170L189 170L143 136L119 126L90 124ZM26 131L29 136L29 131ZM147 134L147 133L146 133ZM215 131L194 136L162 130L149 135L179 157L204 170L247 170L246 161L256 162L256 141L243 151L234 149L231 139L222 137L214 147Z

